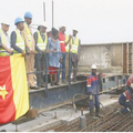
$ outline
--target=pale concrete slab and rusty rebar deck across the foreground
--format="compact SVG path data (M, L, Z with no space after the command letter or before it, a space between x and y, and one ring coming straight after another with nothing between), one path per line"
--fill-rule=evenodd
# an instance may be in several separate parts
M117 103L119 95L102 94L100 101L102 119L92 120L89 113L89 108L84 108L86 119L86 127L80 129L81 111L76 112L71 105L64 105L51 111L45 111L39 114L38 117L23 122L19 125L7 124L0 126L0 130L20 131L20 132L127 132L133 131L133 119L130 114L115 113L121 106Z

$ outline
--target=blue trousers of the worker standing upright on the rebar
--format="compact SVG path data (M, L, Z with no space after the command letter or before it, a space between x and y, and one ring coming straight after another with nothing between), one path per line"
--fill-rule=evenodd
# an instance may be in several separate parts
M91 93L89 93L90 96ZM99 108L100 106L100 101L99 101L99 95L98 94L92 94L92 100L89 99L89 108Z

